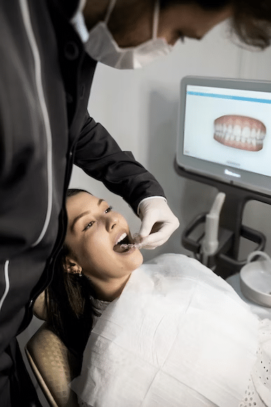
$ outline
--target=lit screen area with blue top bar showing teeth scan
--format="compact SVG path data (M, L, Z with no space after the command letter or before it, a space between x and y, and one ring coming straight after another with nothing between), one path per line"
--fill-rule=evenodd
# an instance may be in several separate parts
M188 84L181 163L193 169L196 158L199 171L214 163L271 177L270 104L268 92Z

